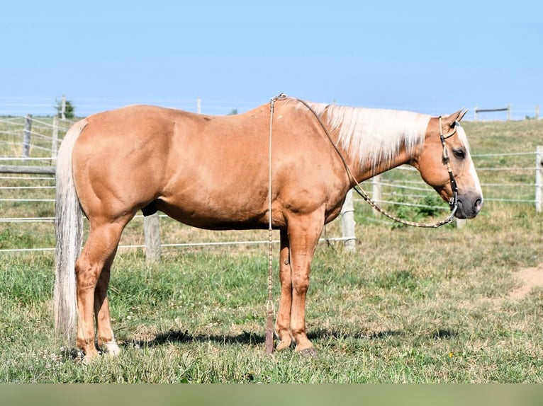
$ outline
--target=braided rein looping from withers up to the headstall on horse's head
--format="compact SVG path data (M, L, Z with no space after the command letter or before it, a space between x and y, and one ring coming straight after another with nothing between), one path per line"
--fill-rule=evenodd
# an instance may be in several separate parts
M351 180L352 180L352 182L354 184L354 187L353 187L354 191L357 192L362 197L362 199L364 199L371 207L373 207L374 209L379 211L379 213L383 214L384 216L388 217L388 219L391 219L393 221L397 221L398 223L401 223L401 224L406 224L408 226L414 226L414 227L437 228L437 227L440 227L440 226L444 226L445 224L449 224L454 220L454 214L456 214L457 209L458 209L458 188L457 188L457 182L454 180L454 175L452 173L452 168L451 168L450 160L449 160L449 154L447 153L447 146L445 145L445 139L447 139L449 137L452 137L452 135L455 132L457 132L457 129L455 128L455 129L452 130L452 132L449 132L449 134L444 135L443 134L441 116L440 116L440 139L441 139L441 143L442 143L442 146L443 146L443 160L445 161L445 163L447 163L447 171L449 172L449 182L451 183L452 194L453 194L451 199L449 200L449 207L451 208L451 214L449 214L447 219L437 221L436 223L427 224L427 223L418 223L417 221L408 221L408 220L400 219L399 217L396 217L396 216L393 216L392 214L389 214L384 209L381 209L381 207L379 207L376 204L376 202L374 202L374 200L372 200L371 197L369 197L369 195L362 188L360 183L352 175L352 172L349 169L349 166L347 165L347 161L345 161L345 158L343 158L342 153L337 148L336 144L332 140L332 137L330 137L330 133L328 132L328 129L326 129L326 127L325 127L325 125L323 123L323 120L320 120L320 117L315 112L315 110L313 110L313 108L311 108L311 106L308 105L308 103L306 103L304 100L301 100L301 99L296 99L296 100L298 100L298 102L305 105L306 108L310 112L313 113L313 115L315 116L315 118L319 122L320 127L323 127L323 130L324 130L324 132L326 134L326 137L328 137L328 140L330 141L330 144L332 144L332 146L334 147L335 151L337 152L337 155L340 156L341 161L343 163L343 166L345 166L345 170L347 171L347 175L349 175L349 178L351 178Z

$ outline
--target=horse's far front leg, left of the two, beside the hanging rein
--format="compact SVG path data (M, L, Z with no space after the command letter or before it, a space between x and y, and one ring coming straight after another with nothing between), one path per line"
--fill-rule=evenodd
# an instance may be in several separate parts
M289 248L289 234L281 230L281 251L279 253L279 281L281 282L281 297L279 298L279 311L275 323L275 331L279 337L277 350L290 347L291 337L291 306L292 306L292 282L291 262Z

